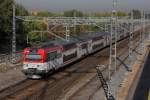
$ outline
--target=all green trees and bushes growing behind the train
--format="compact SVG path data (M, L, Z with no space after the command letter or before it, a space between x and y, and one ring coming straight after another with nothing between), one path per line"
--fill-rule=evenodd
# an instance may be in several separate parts
M12 4L13 0L0 0L0 46L4 50L6 48L11 50L12 40ZM133 10L134 18L141 18L141 12L139 10ZM97 13L83 13L78 10L69 10L63 13L53 13L48 11L41 11L29 14L28 11L19 4L16 4L16 15L17 16L40 16L40 17L110 17L111 12L97 12ZM127 16L125 12L119 11L117 13L119 17ZM131 13L129 13L131 15ZM47 28L47 22L23 22L22 20L16 19L16 34L17 34L17 48L24 48L27 46L27 38L31 42L37 40L47 40L50 35L46 32L34 32L34 30L44 31ZM59 31L65 30L61 26ZM70 28L71 34L81 34L87 31L99 31L100 29L96 26L76 26L76 28ZM56 30L57 31L57 30ZM56 34L61 34L56 32ZM1 51L0 49L0 51ZM2 49L3 50L3 49Z

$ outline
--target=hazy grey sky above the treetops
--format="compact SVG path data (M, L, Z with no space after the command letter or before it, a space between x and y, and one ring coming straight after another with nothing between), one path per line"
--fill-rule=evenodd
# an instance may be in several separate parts
M84 12L111 11L113 0L16 0L30 11L62 12L77 9ZM118 10L150 10L150 0L117 0Z

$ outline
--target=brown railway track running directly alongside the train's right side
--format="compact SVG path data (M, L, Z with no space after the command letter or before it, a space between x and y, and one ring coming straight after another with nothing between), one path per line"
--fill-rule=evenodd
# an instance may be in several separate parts
M138 39L137 39L138 40ZM123 40L123 41L127 41ZM122 42L120 43L120 45ZM125 44L125 42L123 43ZM119 55L122 55L128 48L118 48ZM2 100L57 100L68 89L84 78L85 74L93 73L96 75L95 66L97 64L107 65L109 58L109 48L103 49L94 55L82 59L79 63L72 65L50 76L46 80L26 80L16 86L0 91ZM118 55L118 56L119 56ZM102 69L106 71L107 67ZM76 93L75 93L76 94Z

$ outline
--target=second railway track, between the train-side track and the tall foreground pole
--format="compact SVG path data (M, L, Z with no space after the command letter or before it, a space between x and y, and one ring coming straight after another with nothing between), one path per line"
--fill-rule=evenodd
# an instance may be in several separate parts
M136 41L138 41L138 38L136 39ZM135 42L136 43L136 42ZM138 47L138 45L139 45L139 43L137 43L137 44L135 44L135 47L134 48L137 48ZM122 50L122 52L120 52L120 54L118 55L119 57L121 57L122 55L123 55L123 53L126 51L126 50L128 50L128 49L124 49L124 50ZM125 61L127 58L128 58L128 55L126 54L126 56L124 56L124 57L121 57L122 58L122 61ZM121 63L119 63L117 66L117 70L119 70L120 69L120 67L122 67L121 66L122 64ZM102 72L104 73L104 76L105 76L105 79L106 80L108 80L108 77L106 77L107 76L107 70L102 70ZM111 75L113 76L114 75L114 73L112 72L111 73ZM96 83L96 84L99 84L99 79L97 79L97 76L94 76L92 79L91 79L91 81L88 81L83 87L81 87L78 91L76 91L71 97L69 97L67 100L80 100L81 98L83 98L83 96L82 96L82 94L84 95L84 99L83 100L92 100L92 97L94 96L94 94L97 92L97 91L99 91L99 89L100 88L102 88L102 86L101 86L101 84L100 85L98 85L98 87L92 87L92 82L95 82L96 80L98 80L98 83ZM95 84L95 83L94 83ZM90 86L91 85L91 86ZM89 88L90 87L90 88ZM87 92L87 94L85 94L85 92L83 92L83 91L90 91L91 90L91 88L93 88L94 89L94 91L92 92ZM89 94L88 94L89 93ZM81 96L82 97L81 97ZM86 96L85 96L86 95ZM79 98L80 97L80 98ZM64 99L64 98L63 98ZM61 99L61 100L63 100L63 99Z

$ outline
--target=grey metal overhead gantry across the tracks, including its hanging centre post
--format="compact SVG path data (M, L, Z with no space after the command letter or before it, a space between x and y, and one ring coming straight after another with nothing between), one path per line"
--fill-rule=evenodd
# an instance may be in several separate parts
M108 29L108 25L111 24L111 17L37 17L37 16L16 16L15 18L33 22L33 21L46 21L48 25L54 25L53 28L57 28L56 26L63 26L66 29L66 37L64 38L66 41L69 41L70 38L70 27L76 27L80 25L93 25L102 30ZM129 20L127 17L122 17L118 19L118 23L139 23L139 20ZM105 23L105 26L100 26L99 23ZM106 28L107 26L107 28ZM52 33L52 30L47 27L47 31ZM53 35L53 34L52 34ZM63 38L63 37L62 37Z

